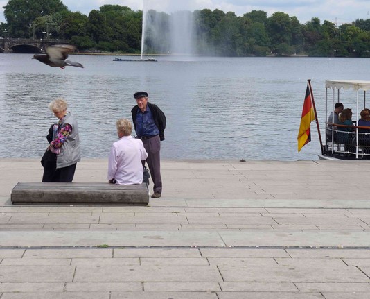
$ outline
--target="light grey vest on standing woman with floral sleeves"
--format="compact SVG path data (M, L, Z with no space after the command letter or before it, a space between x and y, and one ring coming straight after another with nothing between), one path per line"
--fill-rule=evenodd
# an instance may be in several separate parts
M78 125L76 119L68 112L64 117L60 126L66 123L72 126L72 132L67 137L66 141L60 148L60 153L57 155L57 169L71 166L81 160L80 153L80 137L78 136Z

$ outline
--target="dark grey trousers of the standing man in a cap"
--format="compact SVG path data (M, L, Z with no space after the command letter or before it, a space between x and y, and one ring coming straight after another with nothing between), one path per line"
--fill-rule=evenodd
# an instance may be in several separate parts
M148 158L146 161L143 161L143 166L145 162L148 164L150 176L154 184L153 191L155 193L162 193L161 140L159 140L159 135L143 140L143 145L148 153Z

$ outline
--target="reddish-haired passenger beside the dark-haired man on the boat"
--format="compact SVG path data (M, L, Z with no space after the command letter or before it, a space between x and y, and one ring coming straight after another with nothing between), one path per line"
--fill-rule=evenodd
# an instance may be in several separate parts
M337 142L340 144L344 144L344 150L354 152L355 147L353 146L353 137L352 134L354 131L353 123L352 123L352 110L350 108L346 108L342 111L339 117L340 125L345 126L338 126L337 127Z

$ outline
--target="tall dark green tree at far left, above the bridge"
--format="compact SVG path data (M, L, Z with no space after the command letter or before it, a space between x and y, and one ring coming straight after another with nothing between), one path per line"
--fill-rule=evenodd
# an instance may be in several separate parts
M4 17L12 37L30 37L30 27L37 17L67 10L60 0L9 0Z

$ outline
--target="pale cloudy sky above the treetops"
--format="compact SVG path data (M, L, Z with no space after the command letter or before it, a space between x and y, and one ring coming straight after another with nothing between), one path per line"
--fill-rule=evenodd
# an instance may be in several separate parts
M8 0L0 0L0 22L5 22L3 6L6 3ZM285 12L290 17L297 17L301 24L310 21L312 17L318 17L321 24L328 20L337 26L356 19L370 19L370 0L62 0L62 3L69 10L85 15L105 4L118 4L135 11L143 10L143 5L165 12L209 8L235 12L237 16L251 10L263 10L267 12L267 17L274 12Z

